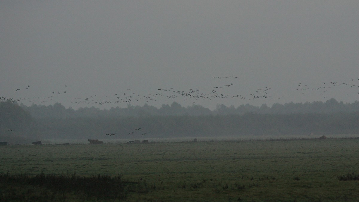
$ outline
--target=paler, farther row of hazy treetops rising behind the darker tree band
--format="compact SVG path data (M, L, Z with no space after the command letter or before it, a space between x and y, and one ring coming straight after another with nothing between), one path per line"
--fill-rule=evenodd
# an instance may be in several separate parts
M54 105L36 105L25 106L20 104L25 111L29 112L34 118L75 118L75 117L148 117L148 116L202 116L202 115L243 115L246 113L255 114L305 114L305 113L352 113L359 112L359 102L344 104L342 101L337 102L334 98L326 102L305 102L305 103L275 103L272 107L262 104L260 107L250 104L242 104L235 108L224 104L218 104L216 109L210 110L201 105L192 105L182 107L181 104L173 102L171 105L163 104L160 108L150 106L148 104L141 106L127 105L127 108L112 107L110 109L99 109L96 107L84 107L74 110L73 108L65 108L60 103Z

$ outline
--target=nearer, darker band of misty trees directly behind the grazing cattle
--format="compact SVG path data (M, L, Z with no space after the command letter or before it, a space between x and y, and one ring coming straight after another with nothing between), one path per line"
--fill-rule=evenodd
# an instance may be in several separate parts
M43 136L51 138L208 137L242 135L358 134L359 113L151 116L125 118L38 119ZM137 127L146 132L134 131ZM129 135L130 132L135 132ZM319 136L318 136L319 137Z

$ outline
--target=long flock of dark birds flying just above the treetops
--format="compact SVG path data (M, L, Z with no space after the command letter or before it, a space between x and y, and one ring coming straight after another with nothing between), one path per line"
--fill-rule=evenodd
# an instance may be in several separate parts
M224 81L229 80L229 82L225 82L225 85L216 85L210 86L207 90L200 90L199 88L193 88L190 90L176 90L173 88L157 88L152 93L149 94L137 94L133 92L131 89L126 89L125 91L116 93L114 95L90 95L89 97L85 98L72 98L72 100L68 100L71 104L81 104L81 105L109 105L109 104L130 104L136 105L137 103L144 103L144 102L160 102L163 100L173 100L172 102L180 102L178 99L182 99L183 102L190 101L192 103L196 103L197 100L217 100L217 99L238 99L238 100L258 100L258 99L280 99L284 97L283 95L273 95L272 88L268 86L263 86L261 88L257 88L252 90L252 92L247 92L245 94L236 93L236 94L229 94L230 92L235 92L241 90L239 86L236 86L236 80L238 80L237 76L212 76L212 79L221 79ZM322 82L320 86L316 87L309 87L304 83L299 83L298 88L296 90L300 91L301 94L306 94L309 92L318 93L319 95L326 98L326 93L328 90L332 88L337 88L339 86L349 86L350 88L357 88L359 87L359 83L355 83L359 79L350 79L347 83L345 82ZM30 85L25 86L26 90L30 89ZM17 93L21 94L21 88L15 89ZM32 98L6 98L4 96L0 97L1 100L10 100L11 102L29 102L33 104L43 104L45 105L47 102L61 102L60 97L61 94L65 94L67 91L71 91L71 88L68 88L67 85L64 85L61 90L58 91L50 91L48 96L46 97L32 97ZM359 94L359 91L357 92ZM59 100L57 100L59 99ZM120 105L121 106L121 105ZM109 134L111 135L111 134Z

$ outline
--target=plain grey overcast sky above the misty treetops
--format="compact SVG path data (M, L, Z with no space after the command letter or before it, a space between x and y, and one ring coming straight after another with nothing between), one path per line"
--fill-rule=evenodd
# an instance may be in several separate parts
M0 97L74 109L351 103L358 11L357 0L1 0Z

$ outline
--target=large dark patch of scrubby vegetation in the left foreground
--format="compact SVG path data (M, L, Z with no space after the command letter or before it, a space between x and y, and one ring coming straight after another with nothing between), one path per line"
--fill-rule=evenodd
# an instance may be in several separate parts
M1 193L2 198L8 200L13 199L31 199L41 197L44 200L53 200L54 196L61 194L61 198L65 199L67 194L77 196L95 197L98 200L103 199L125 199L129 192L139 190L140 183L123 181L121 176L109 177L108 175L97 175L91 177L80 177L73 175L55 175L44 173L30 177L27 174L9 175L0 174L1 187L17 187L23 189L19 194ZM40 196L33 196L34 191L42 190L38 193ZM46 194L44 194L46 192ZM143 192L143 187L141 187ZM11 192L12 193L12 192ZM43 198L45 197L45 198ZM59 196L56 197L60 199Z

